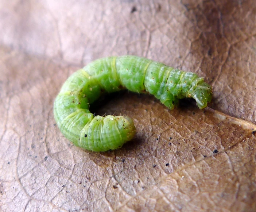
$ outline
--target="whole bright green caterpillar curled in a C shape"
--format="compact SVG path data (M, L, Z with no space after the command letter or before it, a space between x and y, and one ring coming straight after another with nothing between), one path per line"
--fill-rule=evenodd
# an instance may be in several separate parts
M54 102L54 118L74 145L92 151L120 148L136 133L123 116L93 116L89 104L102 93L128 89L149 92L173 109L178 99L192 97L200 109L212 99L212 87L195 73L184 72L137 56L106 57L73 73Z

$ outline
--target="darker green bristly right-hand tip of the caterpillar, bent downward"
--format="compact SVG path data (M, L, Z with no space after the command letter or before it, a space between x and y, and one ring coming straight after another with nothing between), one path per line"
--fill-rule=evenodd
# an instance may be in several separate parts
M207 103L212 100L212 86L205 82L198 84L191 97L195 99L200 109L207 107Z

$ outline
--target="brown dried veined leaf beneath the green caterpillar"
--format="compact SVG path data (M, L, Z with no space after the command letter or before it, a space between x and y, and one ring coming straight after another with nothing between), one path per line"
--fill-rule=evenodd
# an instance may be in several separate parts
M0 210L256 211L255 17L254 0L1 1ZM53 118L61 85L126 54L206 77L212 104L120 93L97 112L131 116L136 138L74 147Z

